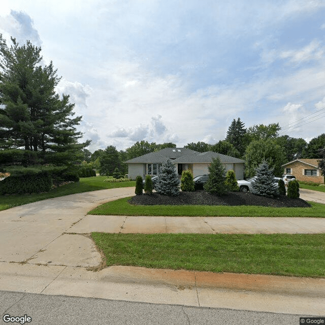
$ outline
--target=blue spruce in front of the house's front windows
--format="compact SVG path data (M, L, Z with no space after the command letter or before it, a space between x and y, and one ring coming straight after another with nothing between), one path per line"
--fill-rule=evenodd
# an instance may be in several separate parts
M156 191L160 194L176 196L179 194L179 181L175 165L170 159L161 165L159 177L156 183Z

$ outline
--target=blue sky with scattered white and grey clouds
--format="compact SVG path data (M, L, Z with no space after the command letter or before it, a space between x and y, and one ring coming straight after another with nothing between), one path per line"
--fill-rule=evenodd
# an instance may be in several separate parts
M0 33L53 61L91 152L214 144L238 117L324 133L325 0L2 0Z

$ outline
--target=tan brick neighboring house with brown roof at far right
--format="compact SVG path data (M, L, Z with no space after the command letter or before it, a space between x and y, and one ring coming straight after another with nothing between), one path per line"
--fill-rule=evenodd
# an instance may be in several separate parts
M324 176L318 168L318 159L296 159L282 165L284 174L294 175L299 181L324 183Z

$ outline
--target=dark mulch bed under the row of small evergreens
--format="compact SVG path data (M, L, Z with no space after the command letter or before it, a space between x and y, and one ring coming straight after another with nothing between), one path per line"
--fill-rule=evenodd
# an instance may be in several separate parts
M202 191L179 192L179 196L166 196L153 193L152 195L137 195L128 201L134 205L255 205L263 207L307 208L309 203L302 199L290 199L280 195L278 198L257 196L249 192L230 192L225 196L216 196Z

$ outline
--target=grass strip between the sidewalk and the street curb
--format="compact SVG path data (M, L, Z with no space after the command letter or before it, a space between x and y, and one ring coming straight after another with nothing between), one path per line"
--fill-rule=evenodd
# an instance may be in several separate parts
M107 266L325 276L325 234L92 233Z

